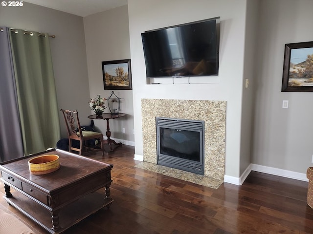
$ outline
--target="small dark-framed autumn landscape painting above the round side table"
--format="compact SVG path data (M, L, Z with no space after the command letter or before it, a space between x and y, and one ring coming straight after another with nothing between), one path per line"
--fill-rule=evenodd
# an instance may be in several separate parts
M104 89L132 89L131 59L102 62Z

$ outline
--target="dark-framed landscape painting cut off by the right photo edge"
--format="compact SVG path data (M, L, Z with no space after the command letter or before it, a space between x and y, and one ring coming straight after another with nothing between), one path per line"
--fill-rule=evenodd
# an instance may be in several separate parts
M313 92L313 41L285 44L282 92Z

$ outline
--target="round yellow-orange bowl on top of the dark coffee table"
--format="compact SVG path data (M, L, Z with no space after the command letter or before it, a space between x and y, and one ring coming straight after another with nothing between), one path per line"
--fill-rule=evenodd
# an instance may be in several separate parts
M28 161L30 174L44 175L54 172L60 168L59 156L44 155L33 157Z

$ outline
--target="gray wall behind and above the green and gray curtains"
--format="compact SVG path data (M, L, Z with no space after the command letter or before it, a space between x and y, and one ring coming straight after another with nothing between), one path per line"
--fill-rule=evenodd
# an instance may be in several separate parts
M81 123L89 124L89 83L83 18L24 2L22 7L1 6L0 24L56 36L50 39L50 47L59 108L77 109ZM61 112L60 124L62 137L67 137Z

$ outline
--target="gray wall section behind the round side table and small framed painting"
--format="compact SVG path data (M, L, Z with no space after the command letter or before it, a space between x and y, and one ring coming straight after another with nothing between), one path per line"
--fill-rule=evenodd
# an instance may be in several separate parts
M85 17L84 28L90 98L97 95L108 98L112 90L104 90L101 62L131 59L127 5ZM109 121L112 137L134 145L133 90L113 91L117 97L122 98L120 112L127 116ZM110 112L109 108L105 112ZM91 110L90 113L94 114ZM105 134L106 122L104 120L94 122ZM122 128L125 128L125 133L122 132Z

